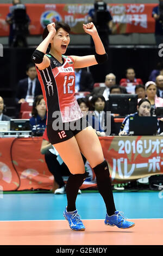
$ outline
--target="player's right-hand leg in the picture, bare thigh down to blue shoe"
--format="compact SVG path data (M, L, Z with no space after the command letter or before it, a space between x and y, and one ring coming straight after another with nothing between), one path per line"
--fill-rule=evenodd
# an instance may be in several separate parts
M117 225L119 228L133 227L133 222L126 221L124 217L116 211L108 163L104 160L101 143L99 142L96 132L89 126L77 133L75 137L80 151L86 157L87 161L89 161L96 174L98 190L106 205L107 214L105 224Z

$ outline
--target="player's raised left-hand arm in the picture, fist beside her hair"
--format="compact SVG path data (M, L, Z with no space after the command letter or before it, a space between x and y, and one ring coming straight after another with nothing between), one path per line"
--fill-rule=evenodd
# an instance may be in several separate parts
M55 23L51 23L47 26L49 31L47 37L41 42L41 44L36 48L32 55L32 60L36 64L37 68L40 70L46 69L50 65L49 58L45 55L48 45L50 44L51 40L53 39L56 30L55 30Z

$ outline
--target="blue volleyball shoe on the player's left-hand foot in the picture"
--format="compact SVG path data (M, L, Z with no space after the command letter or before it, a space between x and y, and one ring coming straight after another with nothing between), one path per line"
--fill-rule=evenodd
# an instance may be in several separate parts
M68 221L68 224L71 229L76 230L76 231L84 231L85 230L85 227L83 225L83 222L81 221L81 217L78 214L77 210L73 211L72 213L67 212L67 207L66 207L65 211L64 211L64 217Z

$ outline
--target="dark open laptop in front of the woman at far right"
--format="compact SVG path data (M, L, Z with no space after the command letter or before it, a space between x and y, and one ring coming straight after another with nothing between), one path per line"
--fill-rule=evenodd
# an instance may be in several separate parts
M158 130L157 117L130 117L129 135L156 135Z

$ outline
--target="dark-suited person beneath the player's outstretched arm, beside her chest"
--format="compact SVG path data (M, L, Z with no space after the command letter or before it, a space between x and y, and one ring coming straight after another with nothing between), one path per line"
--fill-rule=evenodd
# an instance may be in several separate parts
M93 77L91 72L87 72L85 69L75 69L76 84L75 90L77 92L92 92L93 89Z

